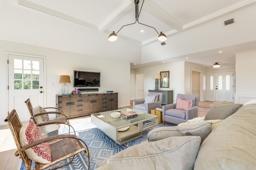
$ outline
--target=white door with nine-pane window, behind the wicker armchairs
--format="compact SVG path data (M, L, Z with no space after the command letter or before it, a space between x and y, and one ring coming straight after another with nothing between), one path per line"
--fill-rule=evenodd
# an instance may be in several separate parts
M44 59L8 54L8 111L16 109L21 121L30 113L25 101L33 107L44 106Z

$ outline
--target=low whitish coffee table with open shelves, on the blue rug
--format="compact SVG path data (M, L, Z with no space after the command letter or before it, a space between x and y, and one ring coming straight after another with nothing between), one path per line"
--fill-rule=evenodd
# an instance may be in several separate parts
M134 111L132 109L120 109L122 111ZM142 131L158 125L158 116L144 113L142 111L135 111L138 116L134 118L125 119L124 117L112 118L110 116L112 111L105 111L100 113L91 114L91 122L99 129L104 131L108 137L116 141L119 145L132 141L142 136ZM143 127L144 121L153 121L154 124ZM138 126L136 126L138 124ZM120 131L122 128L128 128L126 131ZM119 130L119 131L118 131Z

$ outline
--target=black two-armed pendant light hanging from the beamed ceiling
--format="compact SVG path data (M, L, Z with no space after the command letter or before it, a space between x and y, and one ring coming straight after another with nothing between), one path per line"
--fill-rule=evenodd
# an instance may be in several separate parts
M136 23L136 22L138 22L138 23L140 23L139 22L139 16L140 16L140 13L138 13L138 10L139 10L139 0L134 0L134 3L135 3L135 22L134 23ZM141 9L142 9L142 6L143 6L143 3L144 3L144 0L143 0L143 2L142 2L142 5L141 5L141 8L140 8L140 12L141 12ZM134 24L134 23L130 23L130 24L127 24L127 25L132 25L132 24ZM146 24L144 24L144 23L140 23L140 24L142 24L142 25L145 25L145 26L147 26L147 27L151 27L151 26L148 26L148 25L146 25ZM109 35L109 37L108 37L108 41L111 41L111 42L113 42L113 41L116 41L117 40L117 33L123 28L123 27L125 27L125 26L127 26L127 25L124 25L124 26L122 26L116 33L115 33L115 31L113 31L110 35ZM154 27L151 27L151 28L154 28ZM154 28L155 29L155 28ZM156 30L156 29L155 29ZM157 33L158 33L158 31L156 31ZM160 32L160 33L158 33L158 38L157 38L159 41L166 41L167 40L167 37L166 37L166 35L164 34L164 33L162 33L162 32Z

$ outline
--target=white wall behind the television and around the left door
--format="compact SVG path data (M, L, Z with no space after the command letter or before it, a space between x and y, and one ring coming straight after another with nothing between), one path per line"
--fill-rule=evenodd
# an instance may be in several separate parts
M99 92L113 90L118 92L118 106L130 106L130 63L114 59L82 55L33 45L0 40L0 125L8 114L7 90L7 57L5 52L22 53L46 57L46 104L44 107L56 105L56 94L60 94L62 84L60 75L70 75L70 91L73 89L74 70L100 72L101 82ZM53 87L50 86L53 83ZM24 106L25 103L24 103ZM15 108L14 108L15 109Z

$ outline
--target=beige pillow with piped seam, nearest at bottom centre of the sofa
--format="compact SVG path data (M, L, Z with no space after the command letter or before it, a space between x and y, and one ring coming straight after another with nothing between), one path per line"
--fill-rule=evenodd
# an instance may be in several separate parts
M186 136L141 143L115 154L107 164L111 170L192 170L200 141Z

